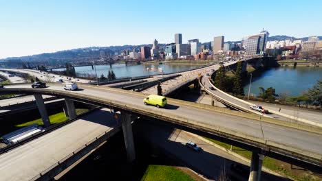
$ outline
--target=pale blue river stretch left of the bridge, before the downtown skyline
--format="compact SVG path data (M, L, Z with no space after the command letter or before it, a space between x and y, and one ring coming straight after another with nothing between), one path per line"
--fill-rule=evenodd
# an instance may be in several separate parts
M197 67L201 67L202 65L196 64L135 64L128 65L125 64L113 64L110 68L109 65L96 65L96 71L98 77L100 75L105 75L107 77L107 73L109 70L114 71L117 78L120 77L137 77L144 75L157 75L163 73L176 73L179 71L188 71L191 69L195 69ZM149 71L147 71L149 68ZM152 69L152 71L151 71ZM55 71L63 71L64 69L54 69ZM89 73L95 75L95 70L92 69L92 66L85 67L75 67L76 74L81 75L85 73Z

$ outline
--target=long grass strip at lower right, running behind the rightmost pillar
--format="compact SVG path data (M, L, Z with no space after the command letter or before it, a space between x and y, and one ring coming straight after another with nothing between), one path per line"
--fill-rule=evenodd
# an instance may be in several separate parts
M204 137L206 138L206 137ZM206 138L208 141L211 141L219 146L222 146L226 149L230 149L230 145L227 144L227 143L222 143L220 141L216 141L216 140L213 140L211 138ZM240 147L235 147L233 146L233 152L239 154L240 156L244 156L245 158L247 158L248 160L251 160L252 158L252 152L246 150L246 149L242 149ZM272 170L272 171L275 171L277 173L280 173L284 176L288 176L294 180L319 180L320 178L319 177L316 177L314 176L313 174L302 174L302 173L299 173L299 174L294 174L292 173L292 170L287 166L288 164L287 163L284 163L279 161L279 160L276 160L274 158L270 158L268 156L264 157L264 160L263 160L263 166Z

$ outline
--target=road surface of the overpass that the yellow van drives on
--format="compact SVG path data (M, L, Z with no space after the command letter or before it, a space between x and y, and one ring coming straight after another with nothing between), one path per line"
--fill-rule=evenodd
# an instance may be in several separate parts
M60 84L49 84L47 89L63 90L63 86ZM21 88L29 87L28 85L12 85L6 86L6 88ZM276 141L283 145L290 145L299 149L308 150L317 154L322 154L322 142L321 134L314 134L311 132L305 132L301 130L295 130L292 128L286 128L281 125L274 125L269 123L261 123L257 120L246 119L242 117L236 117L233 115L213 112L211 110L204 110L202 108L195 108L191 106L177 106L172 104L168 108L158 109L154 106L144 106L143 97L139 95L132 95L127 93L119 93L117 89L111 91L106 88L96 86L81 86L83 90L76 91L78 95L93 95L95 97L101 97L102 99L111 99L121 101L124 104L131 106L149 109L151 111L162 112L162 114L175 114L180 117L187 117L200 123L206 123L208 125L218 125L221 128L228 128L249 134L251 136L257 136L259 138L265 138L266 140ZM67 90L65 90L67 91ZM169 103L171 104L171 103Z

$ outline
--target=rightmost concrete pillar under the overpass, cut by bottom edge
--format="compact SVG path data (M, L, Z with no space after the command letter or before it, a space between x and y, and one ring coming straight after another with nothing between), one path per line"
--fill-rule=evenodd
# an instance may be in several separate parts
M250 162L250 173L248 181L260 181L261 180L261 165L263 164L264 154L253 152L252 160Z

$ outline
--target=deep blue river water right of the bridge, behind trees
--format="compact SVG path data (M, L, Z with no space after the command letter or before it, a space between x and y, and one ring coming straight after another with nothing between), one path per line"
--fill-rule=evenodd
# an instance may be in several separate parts
M312 88L317 80L322 80L322 67L278 67L269 69L260 77L253 77L250 95L259 95L259 87L273 87L277 94L286 93L288 96L298 96L303 91ZM249 84L244 87L248 95Z

